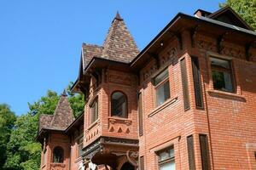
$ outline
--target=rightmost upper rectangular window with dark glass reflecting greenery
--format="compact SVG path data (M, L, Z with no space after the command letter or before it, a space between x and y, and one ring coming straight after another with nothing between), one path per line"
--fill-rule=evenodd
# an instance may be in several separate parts
M234 92L230 61L212 57L210 60L212 67L213 88L225 92Z

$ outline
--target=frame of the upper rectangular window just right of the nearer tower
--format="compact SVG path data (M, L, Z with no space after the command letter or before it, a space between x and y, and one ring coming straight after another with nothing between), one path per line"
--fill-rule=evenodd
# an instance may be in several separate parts
M162 81L158 82L157 84L155 83L155 78L160 76L160 74L164 71L167 71L168 76L164 78ZM152 82L154 85L154 106L159 107L160 105L163 105L168 99L171 99L171 84L170 84L170 73L169 73L169 67L164 68L161 70L156 76L152 78ZM167 98L162 104L158 105L158 98L157 98L157 89L163 86L166 82L169 83L169 98Z

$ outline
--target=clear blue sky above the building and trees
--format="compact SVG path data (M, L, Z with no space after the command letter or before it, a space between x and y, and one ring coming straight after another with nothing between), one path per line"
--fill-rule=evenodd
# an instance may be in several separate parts
M143 49L178 12L212 12L221 2L1 0L0 103L20 115L48 89L60 94L78 76L82 42L101 45L117 11Z

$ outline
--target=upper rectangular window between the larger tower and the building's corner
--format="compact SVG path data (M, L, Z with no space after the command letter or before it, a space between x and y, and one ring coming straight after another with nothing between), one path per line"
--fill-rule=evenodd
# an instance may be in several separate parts
M156 92L156 106L159 106L170 98L168 69L162 71L158 76L154 77L154 86Z

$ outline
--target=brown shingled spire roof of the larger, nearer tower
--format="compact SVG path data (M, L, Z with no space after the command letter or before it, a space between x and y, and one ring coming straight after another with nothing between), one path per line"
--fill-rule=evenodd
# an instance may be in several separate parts
M83 43L83 67L85 68L93 57L129 63L138 53L136 42L125 26L125 21L117 13L108 29L108 35L102 46Z

